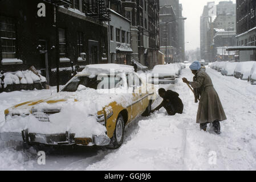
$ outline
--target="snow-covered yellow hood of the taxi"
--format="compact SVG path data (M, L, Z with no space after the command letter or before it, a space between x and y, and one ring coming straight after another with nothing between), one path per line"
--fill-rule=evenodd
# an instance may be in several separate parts
M101 90L109 91L109 90ZM120 90L122 91L122 90ZM127 90L123 90L127 91ZM98 111L109 106L112 102L121 105L124 108L132 105L133 94L105 93L100 90L87 88L79 92L59 92L48 98L38 98L33 101L23 102L6 110L6 114L31 114L32 111L51 111L61 110L60 113L87 113L96 115ZM75 110L75 111L74 111Z

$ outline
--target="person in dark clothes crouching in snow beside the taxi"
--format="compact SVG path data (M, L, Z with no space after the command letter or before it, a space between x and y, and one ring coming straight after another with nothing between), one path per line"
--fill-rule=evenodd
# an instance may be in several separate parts
M160 88L159 96L164 100L159 106L156 107L156 109L151 110L151 113L161 109L161 107L164 107L169 115L175 115L176 113L182 114L183 103L178 97L179 94L177 92L173 92L172 90L166 91L165 89Z

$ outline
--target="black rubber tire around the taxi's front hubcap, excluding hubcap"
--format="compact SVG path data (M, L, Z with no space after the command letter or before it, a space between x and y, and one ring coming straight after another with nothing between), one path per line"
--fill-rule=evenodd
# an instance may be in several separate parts
M121 140L118 142L116 139L116 129L117 129L117 122L121 122L122 125L122 137ZM117 119L116 119L116 129L114 132L113 137L111 138L111 141L109 143L109 145L107 146L108 148L111 149L115 149L115 148L119 148L121 146L121 144L123 144L123 140L124 140L124 119L123 119L123 115L119 114Z

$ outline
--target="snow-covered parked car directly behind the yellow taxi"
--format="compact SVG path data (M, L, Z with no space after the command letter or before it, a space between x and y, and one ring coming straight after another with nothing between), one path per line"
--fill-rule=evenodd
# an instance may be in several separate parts
M149 83L152 84L174 84L176 82L176 71L170 64L155 65L151 74Z

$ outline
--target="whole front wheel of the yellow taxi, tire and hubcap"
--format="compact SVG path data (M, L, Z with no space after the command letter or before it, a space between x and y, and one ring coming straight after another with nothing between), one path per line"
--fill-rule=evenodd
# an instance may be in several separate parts
M116 129L108 148L119 148L124 140L124 119L123 115L119 114L116 119Z

